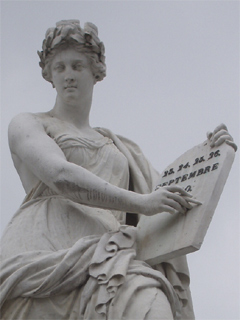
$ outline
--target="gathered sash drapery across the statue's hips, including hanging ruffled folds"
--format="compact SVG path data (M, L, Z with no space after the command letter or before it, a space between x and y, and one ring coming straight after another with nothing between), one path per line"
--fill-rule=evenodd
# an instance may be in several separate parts
M112 301L132 275L141 276L144 281L142 285L139 280L135 286L131 283L131 291L141 286L158 287L168 297L174 319L180 319L179 301L169 281L144 262L134 260L135 239L136 228L121 226L119 231L105 233L101 238L82 238L70 249L25 252L10 258L2 265L1 305L6 299L48 298L85 285L80 315L85 319L86 307L97 291L95 311L107 319ZM118 312L122 316L124 308Z

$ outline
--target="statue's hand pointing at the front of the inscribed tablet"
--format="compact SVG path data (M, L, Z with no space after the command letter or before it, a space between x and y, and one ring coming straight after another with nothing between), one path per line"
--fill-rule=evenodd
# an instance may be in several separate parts
M146 216L156 213L169 212L174 214L179 212L185 214L192 209L192 204L200 205L199 201L192 199L192 195L178 186L157 187L155 191L144 196L144 212Z

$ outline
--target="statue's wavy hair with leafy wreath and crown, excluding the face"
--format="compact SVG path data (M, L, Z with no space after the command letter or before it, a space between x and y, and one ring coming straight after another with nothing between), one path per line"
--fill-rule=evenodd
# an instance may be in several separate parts
M56 28L47 30L42 51L38 51L39 65L45 80L52 83L52 59L58 52L67 48L73 48L86 55L96 82L106 76L105 48L98 38L97 27L87 22L82 29L79 20L62 20L56 23Z

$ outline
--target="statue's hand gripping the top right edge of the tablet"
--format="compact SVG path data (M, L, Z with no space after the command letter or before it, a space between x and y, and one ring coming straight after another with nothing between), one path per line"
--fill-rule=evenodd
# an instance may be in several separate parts
M237 145L234 143L233 137L229 134L226 125L223 123L217 126L213 132L208 132L207 138L211 142L211 147L218 147L225 142L237 151Z

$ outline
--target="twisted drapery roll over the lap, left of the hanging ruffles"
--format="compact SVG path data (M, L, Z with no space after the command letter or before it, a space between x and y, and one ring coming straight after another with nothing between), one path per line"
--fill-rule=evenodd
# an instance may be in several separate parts
M1 306L6 299L46 298L83 285L98 241L99 236L89 236L69 249L23 252L3 261Z

